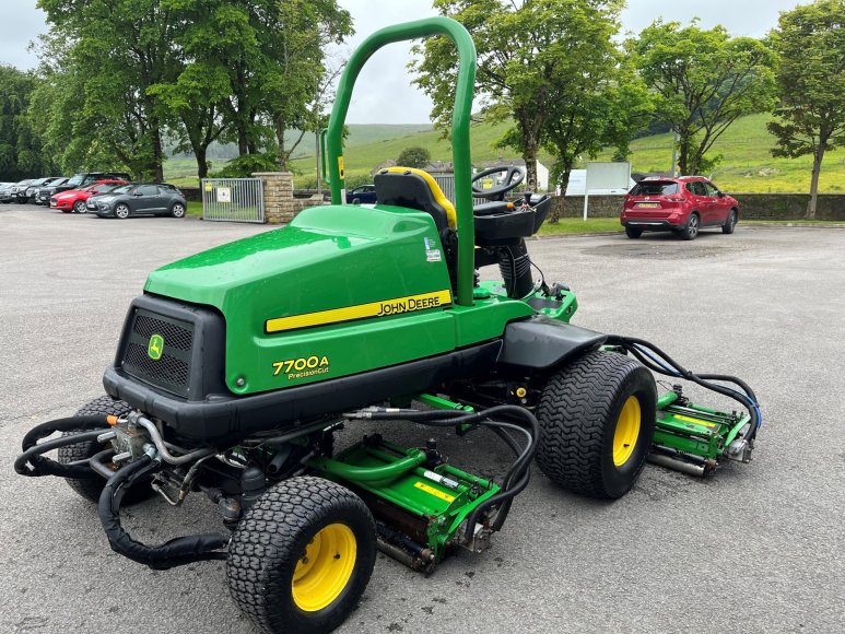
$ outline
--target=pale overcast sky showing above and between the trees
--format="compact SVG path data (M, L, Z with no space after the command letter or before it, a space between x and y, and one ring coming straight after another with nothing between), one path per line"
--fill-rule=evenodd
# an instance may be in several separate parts
M431 0L339 0L352 13L354 48L374 31L429 15L436 15ZM724 24L733 35L760 37L777 24L779 11L800 4L798 0L629 0L622 13L624 31L638 32L656 17L688 22L701 17L709 28ZM806 2L805 2L806 3ZM0 63L34 68L37 58L27 51L30 43L47 31L44 13L35 0L0 0ZM429 121L431 102L409 85L406 63L409 46L392 44L374 55L359 75L347 119L350 124L420 124Z

